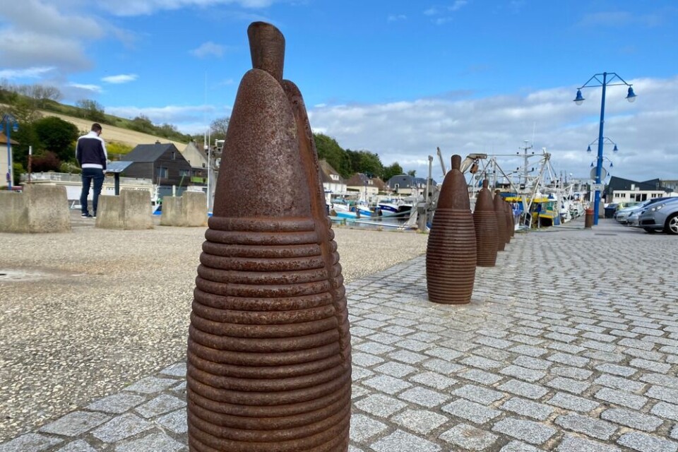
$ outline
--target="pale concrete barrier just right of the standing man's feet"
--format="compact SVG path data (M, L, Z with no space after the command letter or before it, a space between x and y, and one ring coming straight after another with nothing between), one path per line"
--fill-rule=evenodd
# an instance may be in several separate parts
M120 196L99 196L95 227L101 229L153 229L148 191L122 190Z

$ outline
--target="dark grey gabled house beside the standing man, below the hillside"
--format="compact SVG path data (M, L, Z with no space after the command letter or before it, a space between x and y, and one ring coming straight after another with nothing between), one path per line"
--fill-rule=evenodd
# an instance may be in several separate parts
M126 177L152 179L153 184L160 186L162 195L171 193L172 186L183 191L186 186L194 185L191 164L172 143L140 144L125 155L125 160L133 162L124 171Z

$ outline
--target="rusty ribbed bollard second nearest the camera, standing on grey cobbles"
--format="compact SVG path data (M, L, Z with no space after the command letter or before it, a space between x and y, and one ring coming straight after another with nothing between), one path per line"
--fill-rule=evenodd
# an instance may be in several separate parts
M426 249L426 284L434 303L463 304L471 301L475 280L475 227L466 180L460 171L460 155L452 156Z

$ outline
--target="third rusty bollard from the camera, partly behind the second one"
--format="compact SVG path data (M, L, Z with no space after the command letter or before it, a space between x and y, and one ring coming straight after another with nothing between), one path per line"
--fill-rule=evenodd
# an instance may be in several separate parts
M499 242L499 230L496 226L492 191L487 188L487 179L482 181L482 189L478 192L473 211L475 225L475 242L477 263L479 267L494 267L496 248Z

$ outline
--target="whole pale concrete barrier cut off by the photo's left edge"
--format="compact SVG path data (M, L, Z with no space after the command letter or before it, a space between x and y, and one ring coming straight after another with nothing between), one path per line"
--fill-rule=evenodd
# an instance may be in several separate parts
M22 193L0 191L0 232L69 232L66 188L26 185Z

